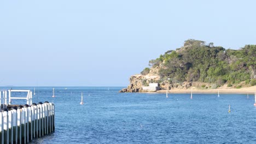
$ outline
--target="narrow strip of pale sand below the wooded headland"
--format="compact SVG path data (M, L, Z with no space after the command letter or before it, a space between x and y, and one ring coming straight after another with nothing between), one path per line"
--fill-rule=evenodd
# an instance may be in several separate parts
M200 89L196 87L192 87L189 89L170 89L168 93L225 93L225 94L254 94L256 92L256 86L253 87L243 87L243 88L227 88L227 87L221 87L217 89ZM166 90L160 90L156 93L166 93Z

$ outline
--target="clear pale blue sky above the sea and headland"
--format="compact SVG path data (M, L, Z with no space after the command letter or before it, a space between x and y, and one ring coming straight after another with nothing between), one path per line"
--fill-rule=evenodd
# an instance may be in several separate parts
M187 39L256 40L256 1L0 1L0 86L122 86Z

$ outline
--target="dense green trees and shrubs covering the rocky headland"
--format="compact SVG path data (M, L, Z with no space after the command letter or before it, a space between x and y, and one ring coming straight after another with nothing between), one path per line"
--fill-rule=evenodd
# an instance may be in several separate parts
M256 85L256 45L246 45L240 50L225 50L213 43L206 45L205 41L188 39L176 51L169 50L149 61L152 67L160 64L161 78L170 77L179 82L216 83L212 87L242 81Z

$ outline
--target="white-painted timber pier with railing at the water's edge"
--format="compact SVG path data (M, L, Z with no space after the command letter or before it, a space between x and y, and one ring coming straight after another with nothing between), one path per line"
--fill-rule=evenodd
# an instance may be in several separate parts
M27 96L11 97L12 92L26 92ZM12 99L26 99L27 103L11 105ZM54 133L54 104L48 101L32 103L30 90L1 91L0 104L0 144L28 143L33 139Z

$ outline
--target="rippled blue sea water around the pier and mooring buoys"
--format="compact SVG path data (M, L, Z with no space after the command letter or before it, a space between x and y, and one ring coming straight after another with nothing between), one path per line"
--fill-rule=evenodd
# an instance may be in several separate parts
M36 87L33 102L55 104L55 133L33 143L256 143L254 95L190 99L190 94L118 93L122 87L55 87L52 98L52 88Z

